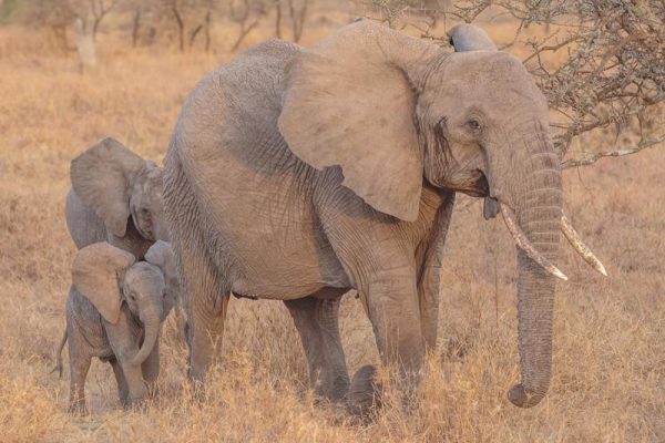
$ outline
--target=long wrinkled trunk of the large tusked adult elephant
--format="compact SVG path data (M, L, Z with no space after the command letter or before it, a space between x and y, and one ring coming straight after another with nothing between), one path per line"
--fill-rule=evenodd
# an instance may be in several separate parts
M554 266L561 235L560 162L546 131L538 124L535 127L535 134L531 131L511 141L511 147L522 150L518 155L523 157L513 158L510 167L522 171L513 172L518 183L505 186L508 193L499 196L504 220L518 244L522 380L510 390L509 399L521 408L538 404L550 387L555 277L566 279Z

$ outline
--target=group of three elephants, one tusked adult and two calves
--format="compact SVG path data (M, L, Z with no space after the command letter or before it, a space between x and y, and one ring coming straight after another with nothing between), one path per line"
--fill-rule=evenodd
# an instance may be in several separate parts
M479 28L449 37L453 53L359 20L310 48L270 40L200 81L163 168L112 138L74 158L71 408L85 408L93 357L112 364L124 404L151 391L175 302L203 387L232 295L283 300L316 394L365 413L380 396L376 368L349 377L338 324L355 289L381 363L416 385L437 342L457 193L484 198L516 245L521 381L509 399L538 404L555 278L566 279L561 233L605 269L562 213L548 104L524 65Z

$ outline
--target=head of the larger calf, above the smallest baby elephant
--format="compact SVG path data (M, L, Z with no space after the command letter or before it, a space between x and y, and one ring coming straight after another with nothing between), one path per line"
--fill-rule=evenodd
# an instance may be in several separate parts
M104 138L72 161L74 193L109 233L124 237L130 216L142 237L168 240L164 220L162 168L114 138Z

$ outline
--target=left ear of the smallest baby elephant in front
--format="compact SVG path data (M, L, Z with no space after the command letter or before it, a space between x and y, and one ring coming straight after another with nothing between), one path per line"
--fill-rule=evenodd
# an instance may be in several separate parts
M112 324L117 323L120 319L122 303L120 276L134 261L132 254L105 241L84 247L74 258L72 265L74 287Z

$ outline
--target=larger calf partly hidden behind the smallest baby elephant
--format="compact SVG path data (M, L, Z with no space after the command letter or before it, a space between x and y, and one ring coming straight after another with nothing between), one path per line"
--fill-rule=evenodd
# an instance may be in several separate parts
M122 143L104 138L72 161L66 226L79 249L109 241L143 259L155 240L168 241L162 168Z

